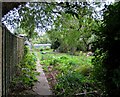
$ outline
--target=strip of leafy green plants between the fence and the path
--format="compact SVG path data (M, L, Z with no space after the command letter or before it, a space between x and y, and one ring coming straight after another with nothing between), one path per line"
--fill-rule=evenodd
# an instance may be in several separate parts
M35 54L25 46L23 60L17 65L18 71L11 83L13 95L19 95L20 92L31 89L34 82L37 81L36 75L39 73L36 72L36 60Z

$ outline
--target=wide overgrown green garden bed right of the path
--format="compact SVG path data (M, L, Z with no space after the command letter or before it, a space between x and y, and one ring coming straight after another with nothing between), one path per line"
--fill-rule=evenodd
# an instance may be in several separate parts
M82 52L77 56L55 52L38 52L38 55L55 95L100 95L99 88L92 79L92 56L87 57Z

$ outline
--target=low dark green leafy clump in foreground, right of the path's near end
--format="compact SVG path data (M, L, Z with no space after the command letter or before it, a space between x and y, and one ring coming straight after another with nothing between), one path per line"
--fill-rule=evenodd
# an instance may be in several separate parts
M93 90L92 81L78 72L59 75L57 80L58 83L54 87L56 95L71 96Z

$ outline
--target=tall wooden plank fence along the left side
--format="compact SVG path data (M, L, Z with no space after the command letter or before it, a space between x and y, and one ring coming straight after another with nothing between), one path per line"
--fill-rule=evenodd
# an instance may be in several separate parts
M10 82L16 74L16 65L24 54L24 39L2 27L2 95L7 97Z

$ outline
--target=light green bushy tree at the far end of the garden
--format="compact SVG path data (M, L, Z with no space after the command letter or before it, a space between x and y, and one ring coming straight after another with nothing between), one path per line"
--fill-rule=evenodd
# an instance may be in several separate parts
M85 15L78 19L71 14L62 14L57 18L54 26L47 32L53 49L59 48L60 52L70 51L74 54L76 50L88 50L89 44L95 38L95 35L92 35L93 30L99 25L90 16Z

